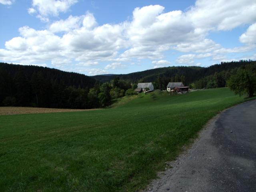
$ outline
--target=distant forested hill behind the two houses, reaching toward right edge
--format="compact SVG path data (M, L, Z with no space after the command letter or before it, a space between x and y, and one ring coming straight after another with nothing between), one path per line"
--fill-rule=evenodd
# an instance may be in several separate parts
M118 74L112 76L97 75L92 76L100 82L110 82L115 76L118 76L122 80L135 82L155 82L159 77L169 78L168 81L182 81L185 78L186 84L190 84L197 80L200 80L206 76L214 75L224 70L231 70L233 68L245 66L252 61L240 60L239 62L222 62L221 64L215 64L209 67L196 67L196 66L177 66L177 67L163 67L145 70L141 72L134 72L130 74Z

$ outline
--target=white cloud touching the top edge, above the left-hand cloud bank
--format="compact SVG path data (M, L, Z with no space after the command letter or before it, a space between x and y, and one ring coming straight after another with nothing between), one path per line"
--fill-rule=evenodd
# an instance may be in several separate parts
M38 12L37 17L42 21L48 21L49 16L58 16L60 12L66 12L77 0L32 0L29 14Z

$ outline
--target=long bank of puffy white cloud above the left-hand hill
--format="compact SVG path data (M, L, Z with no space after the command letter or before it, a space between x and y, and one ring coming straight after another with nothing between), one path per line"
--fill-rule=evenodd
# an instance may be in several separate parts
M19 28L20 36L5 43L6 49L1 50L0 59L16 62L50 60L54 66L70 63L67 59L73 59L91 66L93 60L116 58L118 50L125 46L123 30L122 24L98 26L89 12L54 22L45 30L24 26ZM59 36L57 32L64 34Z

